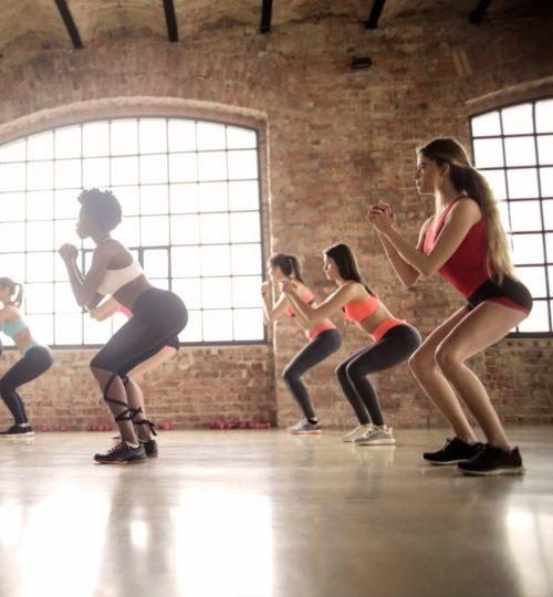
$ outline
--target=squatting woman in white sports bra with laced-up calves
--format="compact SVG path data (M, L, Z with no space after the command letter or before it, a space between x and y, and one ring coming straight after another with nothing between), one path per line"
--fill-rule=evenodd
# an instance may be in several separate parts
M64 244L60 249L76 302L94 308L104 295L109 295L133 313L91 360L92 373L122 438L106 453L95 454L94 460L102 464L144 462L147 453L157 455L157 446L152 439L154 426L144 417L140 390L127 374L167 344L178 342L188 314L176 294L152 286L128 250L111 237L122 219L121 206L113 192L85 189L79 201L82 207L76 233L81 239L91 238L96 248L86 274L77 266L75 247Z

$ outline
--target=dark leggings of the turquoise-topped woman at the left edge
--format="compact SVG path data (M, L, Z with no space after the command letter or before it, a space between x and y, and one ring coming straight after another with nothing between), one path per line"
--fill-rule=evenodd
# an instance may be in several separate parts
M50 348L33 346L0 379L0 396L17 423L28 422L25 406L17 389L19 386L36 379L36 377L50 369L53 363L54 358Z

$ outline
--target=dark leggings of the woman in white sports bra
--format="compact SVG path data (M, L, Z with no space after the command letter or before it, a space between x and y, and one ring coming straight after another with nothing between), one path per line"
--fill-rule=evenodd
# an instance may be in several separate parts
M128 371L157 354L188 322L185 304L175 293L148 289L135 301L133 317L118 329L91 360L91 367L124 378ZM105 392L107 392L107 387Z

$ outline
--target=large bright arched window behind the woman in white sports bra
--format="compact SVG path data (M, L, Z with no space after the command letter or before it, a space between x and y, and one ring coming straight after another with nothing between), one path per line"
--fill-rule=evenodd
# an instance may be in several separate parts
M53 346L104 343L122 317L82 313L56 251L77 243L82 188L113 190L114 237L152 283L189 308L185 343L264 338L258 135L184 118L116 118L55 128L0 147L0 276L24 282L25 318ZM90 264L92 243L84 243Z

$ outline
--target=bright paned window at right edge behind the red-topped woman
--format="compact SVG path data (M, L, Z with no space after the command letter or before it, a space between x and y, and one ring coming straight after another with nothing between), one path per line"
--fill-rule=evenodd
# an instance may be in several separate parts
M517 275L534 307L517 329L551 334L553 308L553 98L471 118L474 166L500 201Z

